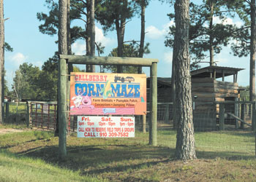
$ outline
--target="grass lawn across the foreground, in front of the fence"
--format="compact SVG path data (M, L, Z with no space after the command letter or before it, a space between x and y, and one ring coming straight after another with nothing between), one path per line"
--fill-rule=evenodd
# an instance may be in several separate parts
M67 137L67 160L58 159L53 132L0 134L0 181L256 181L252 132L196 132L197 159L176 161L176 132L135 138Z

